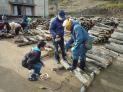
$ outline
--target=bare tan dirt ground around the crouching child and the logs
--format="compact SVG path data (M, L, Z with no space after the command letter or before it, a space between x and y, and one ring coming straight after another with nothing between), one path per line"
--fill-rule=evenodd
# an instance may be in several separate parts
M15 44L0 41L0 92L80 92L81 83L69 71L54 72L54 59L44 59L50 79L30 82L28 70L21 66L23 55L31 46L19 48ZM114 62L96 76L87 92L123 92L123 62Z

